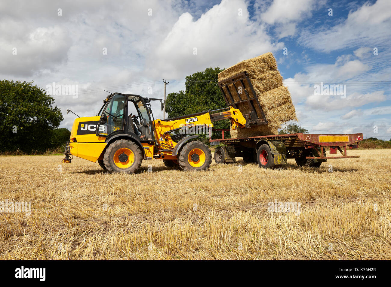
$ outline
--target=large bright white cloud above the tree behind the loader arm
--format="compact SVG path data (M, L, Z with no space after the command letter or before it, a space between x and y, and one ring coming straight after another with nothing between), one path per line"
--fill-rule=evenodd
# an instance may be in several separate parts
M273 43L264 27L249 19L246 7L244 0L223 0L196 21L190 13L182 14L156 45L147 63L149 71L163 71L168 78L184 77L209 66L230 67L282 49L283 43Z

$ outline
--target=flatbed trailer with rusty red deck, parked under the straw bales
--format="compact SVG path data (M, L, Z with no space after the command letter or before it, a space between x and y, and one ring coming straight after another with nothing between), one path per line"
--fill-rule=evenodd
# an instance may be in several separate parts
M328 159L351 159L359 155L347 155L348 149L359 147L362 133L359 134L283 134L264 135L236 139L210 139L215 149L217 164L236 162L243 157L244 162L258 162L262 168L273 168L287 164L287 159L295 159L298 166L319 167ZM326 147L330 156L326 155ZM341 156L331 156L341 153Z

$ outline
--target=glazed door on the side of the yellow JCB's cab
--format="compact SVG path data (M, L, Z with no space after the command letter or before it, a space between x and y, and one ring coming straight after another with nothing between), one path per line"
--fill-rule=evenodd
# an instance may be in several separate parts
M106 103L99 119L97 136L108 137L113 133L124 131L124 119L126 118L126 96L113 94Z

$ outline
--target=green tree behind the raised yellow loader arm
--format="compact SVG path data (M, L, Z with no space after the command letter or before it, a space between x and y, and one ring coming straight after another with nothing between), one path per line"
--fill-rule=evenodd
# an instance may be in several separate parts
M169 93L167 96L166 112L169 118L227 107L217 86L217 74L221 71L219 67L214 69L210 67L202 72L187 76L185 91ZM214 122L213 128L228 129L230 121ZM213 137L217 136L221 137L221 132L213 133ZM229 137L229 132L225 132L224 137Z

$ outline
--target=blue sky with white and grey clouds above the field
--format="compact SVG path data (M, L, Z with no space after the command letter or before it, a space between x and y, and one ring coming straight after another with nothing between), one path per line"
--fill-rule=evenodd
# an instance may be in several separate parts
M163 98L163 78L179 91L196 71L273 52L300 125L389 139L390 27L390 0L2 1L0 78L78 85L55 96L70 128L66 109L95 115L102 89ZM321 82L346 96L316 94Z

